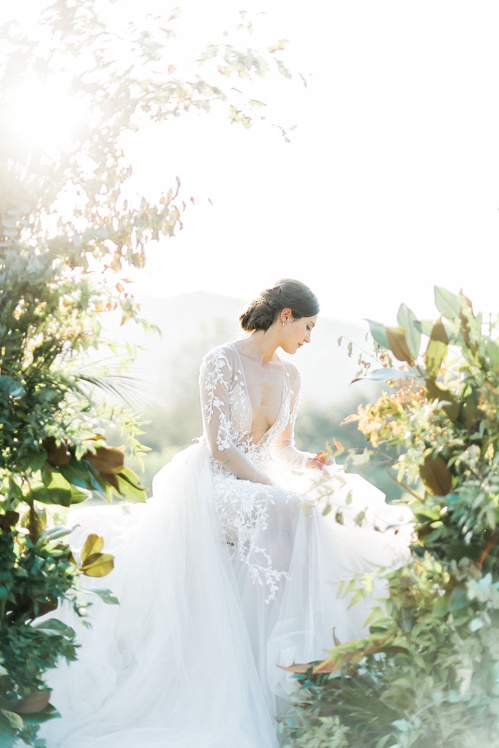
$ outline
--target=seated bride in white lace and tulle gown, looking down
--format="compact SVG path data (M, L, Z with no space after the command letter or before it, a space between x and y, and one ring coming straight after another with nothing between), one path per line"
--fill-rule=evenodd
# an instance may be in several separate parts
M323 516L310 485L327 470L334 501L353 497L346 512L404 517L295 447L300 375L277 350L310 343L318 313L299 281L263 291L239 318L248 335L203 359L203 435L159 470L153 497L71 515L115 555L120 605L93 604L78 660L50 675L61 719L43 727L48 748L277 748L276 717L298 698L280 666L323 659L333 629L361 635L366 608L347 610L334 582L396 562L403 543Z

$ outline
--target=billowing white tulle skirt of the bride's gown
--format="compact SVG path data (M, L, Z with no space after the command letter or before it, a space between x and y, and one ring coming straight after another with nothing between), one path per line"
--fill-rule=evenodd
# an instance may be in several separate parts
M94 583L120 605L95 598L91 629L61 611L82 646L49 674L61 719L43 726L48 748L277 748L275 718L296 702L296 681L279 665L321 660L333 629L342 642L360 636L366 607L348 610L337 580L407 552L406 533L371 529L408 527L407 513L360 476L331 473L347 524L310 508L310 493L249 484L266 509L252 553L260 548L263 570L277 572L270 586L221 520L202 440L157 473L146 504L72 512L73 545L97 532L114 554L114 571ZM241 483L227 479L227 495ZM348 523L366 509L370 527Z

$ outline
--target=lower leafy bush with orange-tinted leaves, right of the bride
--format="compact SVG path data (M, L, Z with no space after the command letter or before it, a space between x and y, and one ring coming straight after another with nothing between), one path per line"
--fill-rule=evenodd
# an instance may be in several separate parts
M499 322L435 289L440 317L370 322L390 390L359 407L372 457L414 512L411 559L380 572L388 598L364 640L296 667L307 702L283 726L298 745L476 748L499 741ZM395 361L397 360L397 361ZM401 362L398 364L397 362ZM345 594L365 598L369 580ZM343 741L343 742L342 742Z

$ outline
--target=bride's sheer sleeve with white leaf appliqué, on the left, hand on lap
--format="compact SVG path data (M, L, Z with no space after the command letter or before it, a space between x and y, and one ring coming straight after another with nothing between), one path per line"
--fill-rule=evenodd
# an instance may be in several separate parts
M203 359L199 375L203 433L209 453L237 478L269 484L269 477L236 447L230 436L231 381L232 365L224 350L210 351Z

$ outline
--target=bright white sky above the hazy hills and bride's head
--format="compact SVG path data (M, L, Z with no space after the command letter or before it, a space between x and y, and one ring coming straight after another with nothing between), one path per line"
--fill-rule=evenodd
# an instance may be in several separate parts
M172 63L191 78L203 74L196 52L236 26L239 6L179 4ZM144 0L141 12L153 6L168 19L173 3ZM434 284L497 311L497 1L244 7L256 26L248 43L287 38L281 57L308 88L278 73L257 81L251 91L272 112L250 130L201 112L130 139L140 193L159 199L178 174L195 197L179 236L150 245L137 295L254 298L288 276L308 283L328 316L352 322L394 322L401 301L434 316ZM119 0L109 18L118 29L137 8ZM298 125L290 144L271 121Z

